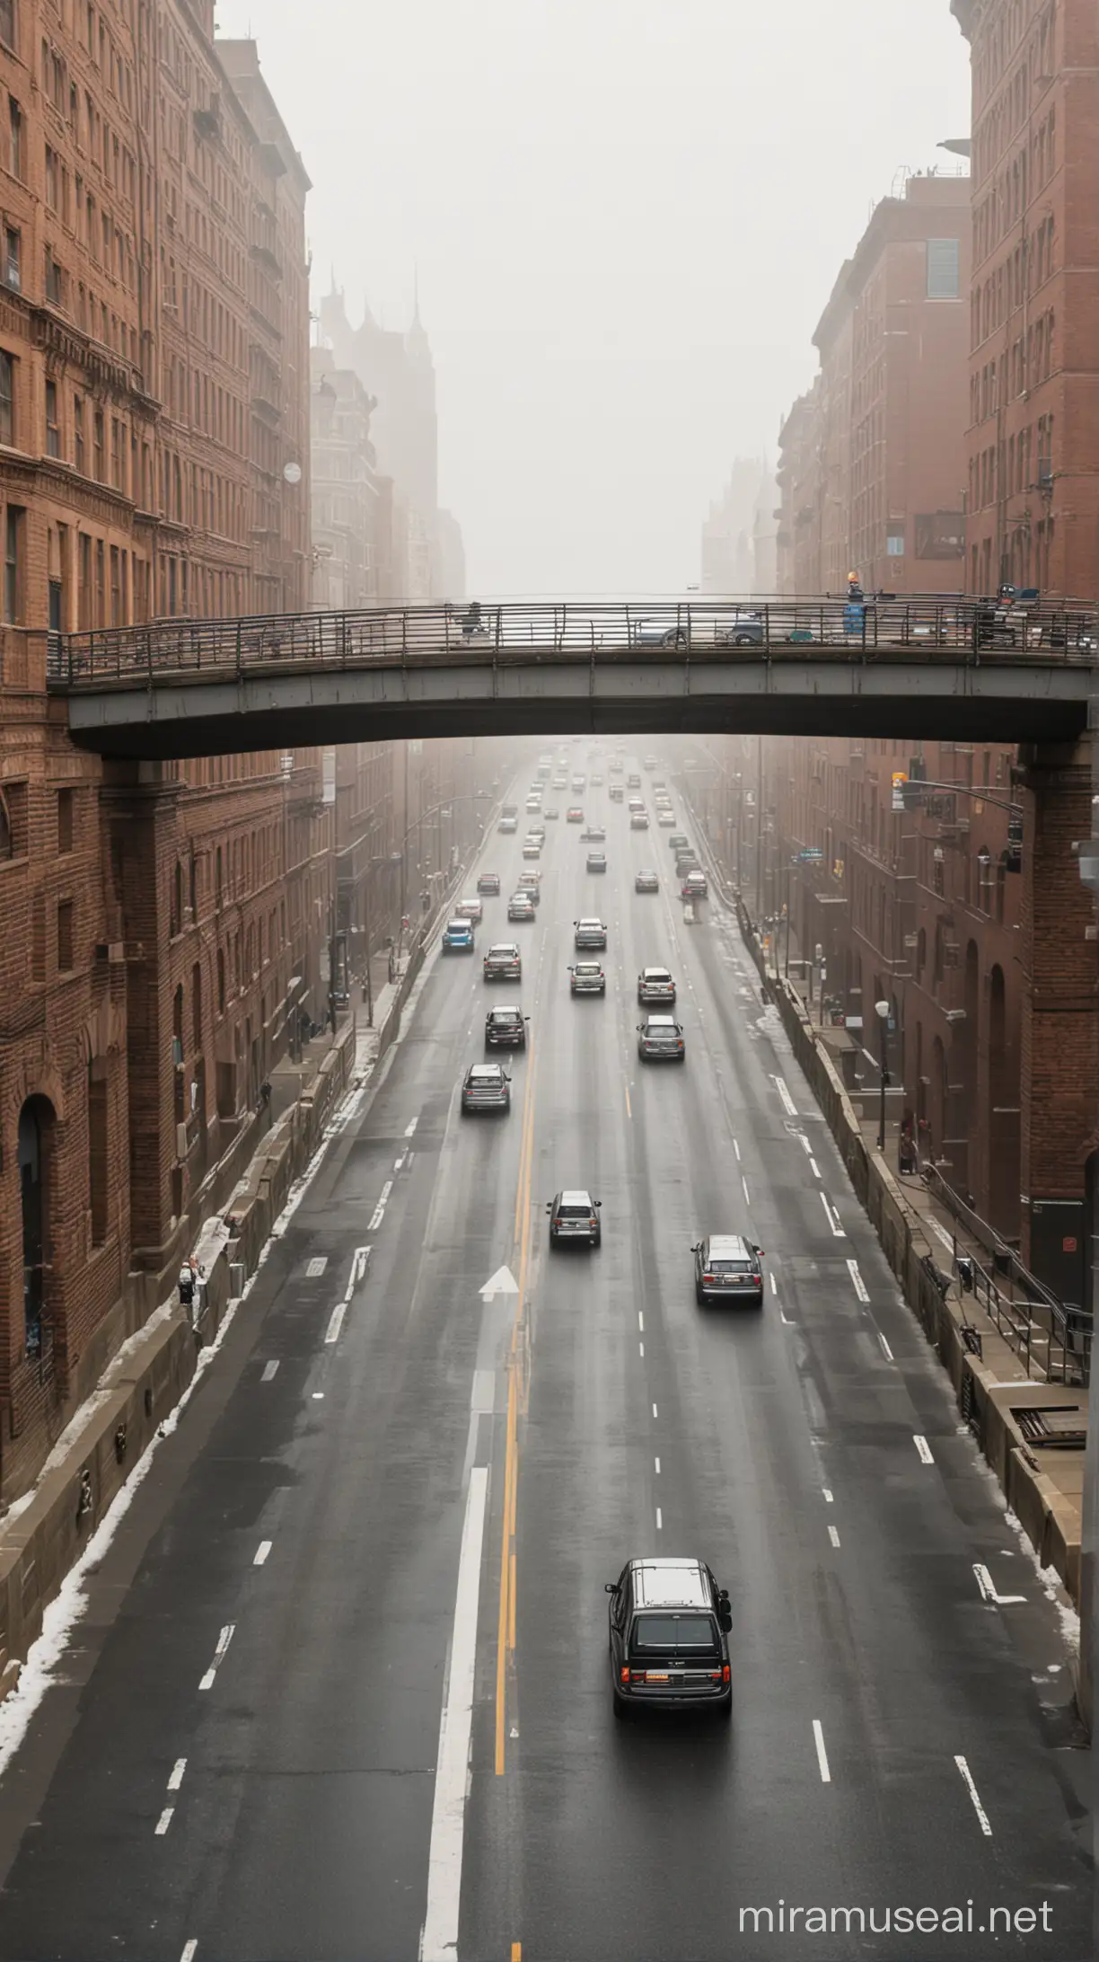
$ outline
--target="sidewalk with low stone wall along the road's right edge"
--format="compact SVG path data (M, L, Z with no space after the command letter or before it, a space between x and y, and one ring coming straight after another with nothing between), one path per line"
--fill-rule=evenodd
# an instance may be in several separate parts
M950 1373L962 1419L997 1473L1042 1568L1056 1570L1079 1607L1087 1389L1050 1375L1079 1373L1079 1360L1072 1348L1050 1340L1040 1305L1026 1305L1026 1297L1005 1277L997 1252L954 1218L922 1175L895 1169L899 1099L893 1099L891 1112L887 1097L885 1152L877 1150L879 1079L873 1058L850 1032L820 1028L814 1020L818 1003L811 1016L805 983L783 973L785 924L775 936L775 975L773 952L765 961L759 932L740 893L726 881L693 808L691 824L712 883L736 912L744 946L779 1008L856 1197L877 1230L909 1307ZM791 959L797 959L795 938ZM973 1264L975 1291L962 1289L958 1260Z

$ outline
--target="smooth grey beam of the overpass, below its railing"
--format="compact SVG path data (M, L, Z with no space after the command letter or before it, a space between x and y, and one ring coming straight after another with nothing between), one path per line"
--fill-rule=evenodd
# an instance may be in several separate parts
M506 665L302 663L243 675L77 687L69 730L84 749L169 759L408 736L911 736L1073 742L1087 728L1089 667L989 655L981 663L883 657L665 659Z

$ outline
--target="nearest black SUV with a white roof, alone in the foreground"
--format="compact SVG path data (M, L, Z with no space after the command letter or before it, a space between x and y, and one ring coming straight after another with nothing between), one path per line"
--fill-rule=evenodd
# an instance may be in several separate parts
M712 1709L732 1715L728 1587L705 1560L677 1554L628 1560L610 1595L614 1715L642 1709Z

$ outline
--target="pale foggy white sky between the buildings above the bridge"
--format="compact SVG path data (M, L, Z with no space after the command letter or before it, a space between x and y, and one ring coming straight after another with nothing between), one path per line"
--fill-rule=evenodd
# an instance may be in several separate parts
M440 388L467 589L671 593L903 165L956 159L948 0L218 0L314 181L316 292ZM314 302L316 304L316 302Z

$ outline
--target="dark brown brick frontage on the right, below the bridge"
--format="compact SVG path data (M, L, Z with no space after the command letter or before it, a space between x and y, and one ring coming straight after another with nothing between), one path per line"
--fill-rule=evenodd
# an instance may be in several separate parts
M1072 852L1087 757L997 744L710 740L706 826L850 1081L903 1085L920 1156L1066 1301L1089 1301L1099 1167L1099 946ZM920 777L893 810L893 773ZM1007 808L1005 808L1007 806ZM803 855L805 853L805 855Z

